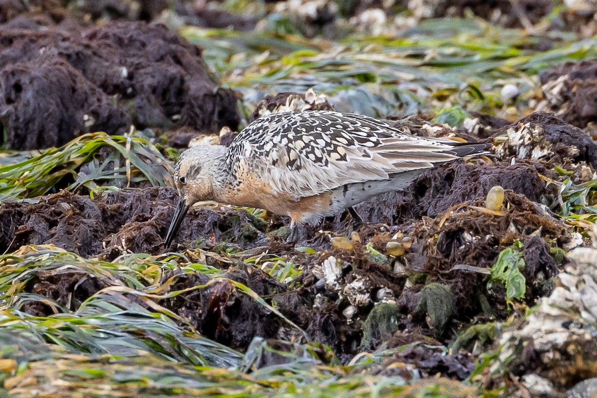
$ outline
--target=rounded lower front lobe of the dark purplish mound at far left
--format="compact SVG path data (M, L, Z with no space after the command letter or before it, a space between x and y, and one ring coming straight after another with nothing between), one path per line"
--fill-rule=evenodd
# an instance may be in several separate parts
M125 133L127 115L66 61L33 60L4 67L0 92L11 148L59 147L87 132Z

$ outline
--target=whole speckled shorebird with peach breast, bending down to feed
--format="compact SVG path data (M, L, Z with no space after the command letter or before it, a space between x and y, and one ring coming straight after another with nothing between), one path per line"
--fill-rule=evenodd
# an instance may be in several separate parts
M407 188L424 170L484 154L485 144L413 136L358 114L303 111L270 114L250 123L229 147L197 145L174 169L180 200L165 247L189 207L213 200L290 216L297 226Z

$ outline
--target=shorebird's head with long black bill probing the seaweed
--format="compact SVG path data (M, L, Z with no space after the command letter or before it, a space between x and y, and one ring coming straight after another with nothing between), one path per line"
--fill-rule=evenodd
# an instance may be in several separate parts
M165 247L170 246L189 208L198 201L213 199L214 177L225 152L226 147L221 145L197 145L180 155L173 176L180 198L168 228Z

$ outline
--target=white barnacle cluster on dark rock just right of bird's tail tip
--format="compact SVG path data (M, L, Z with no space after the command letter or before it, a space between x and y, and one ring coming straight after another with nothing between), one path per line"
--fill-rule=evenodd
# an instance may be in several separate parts
M501 158L540 159L553 154L552 144L543 136L543 128L532 123L508 128L504 135L494 139L494 149Z

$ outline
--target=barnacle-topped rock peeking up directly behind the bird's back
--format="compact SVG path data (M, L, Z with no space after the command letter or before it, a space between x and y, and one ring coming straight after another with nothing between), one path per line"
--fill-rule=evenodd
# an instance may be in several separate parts
M313 89L307 90L304 94L281 92L276 95L268 95L263 101L259 102L249 117L249 121L253 122L253 120L272 113L311 110L334 110L334 107L328 102L325 94L318 95Z

